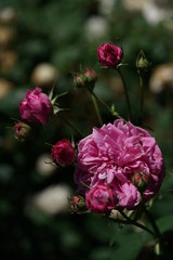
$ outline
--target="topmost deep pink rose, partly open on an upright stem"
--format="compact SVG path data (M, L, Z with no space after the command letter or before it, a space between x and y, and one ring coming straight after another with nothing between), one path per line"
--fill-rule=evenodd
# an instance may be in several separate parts
M121 62L122 50L112 43L103 43L97 49L97 56L103 67L114 68Z

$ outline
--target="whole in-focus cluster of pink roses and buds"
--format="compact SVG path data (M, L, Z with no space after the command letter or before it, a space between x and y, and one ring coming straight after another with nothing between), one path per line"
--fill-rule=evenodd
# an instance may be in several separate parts
M99 46L97 55L104 67L117 69L122 65L122 49L112 43ZM90 68L77 74L74 79L76 87L84 87L90 91L95 106L93 88L96 80L96 73ZM130 107L128 93L127 102ZM19 103L21 117L27 123L39 122L44 126L52 110L50 99L38 87L34 91L27 90ZM96 113L102 122L97 107ZM118 114L112 112L112 115ZM18 122L14 130L15 136L23 140L30 127ZM110 213L112 209L134 210L156 195L165 174L162 154L155 138L122 118L93 128L90 135L80 140L78 152L67 139L52 146L52 160L57 166L75 166L76 157L74 180L78 190L70 202L76 212L81 208L97 213Z

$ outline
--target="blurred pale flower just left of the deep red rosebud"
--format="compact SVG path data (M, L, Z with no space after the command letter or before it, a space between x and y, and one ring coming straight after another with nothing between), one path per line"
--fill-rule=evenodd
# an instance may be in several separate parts
M36 169L40 176L49 177L54 173L56 166L52 164L50 154L42 154L37 159Z

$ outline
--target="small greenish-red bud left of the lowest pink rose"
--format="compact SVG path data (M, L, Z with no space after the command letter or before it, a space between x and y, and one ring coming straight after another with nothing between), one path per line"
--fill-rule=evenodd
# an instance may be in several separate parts
M76 195L69 202L70 210L75 213L86 211L85 200L82 196Z

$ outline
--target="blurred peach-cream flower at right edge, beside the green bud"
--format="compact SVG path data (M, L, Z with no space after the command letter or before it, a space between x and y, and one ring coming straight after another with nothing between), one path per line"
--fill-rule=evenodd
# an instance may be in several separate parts
M152 93L160 93L164 88L173 88L173 64L162 64L155 68L150 80L149 89Z

